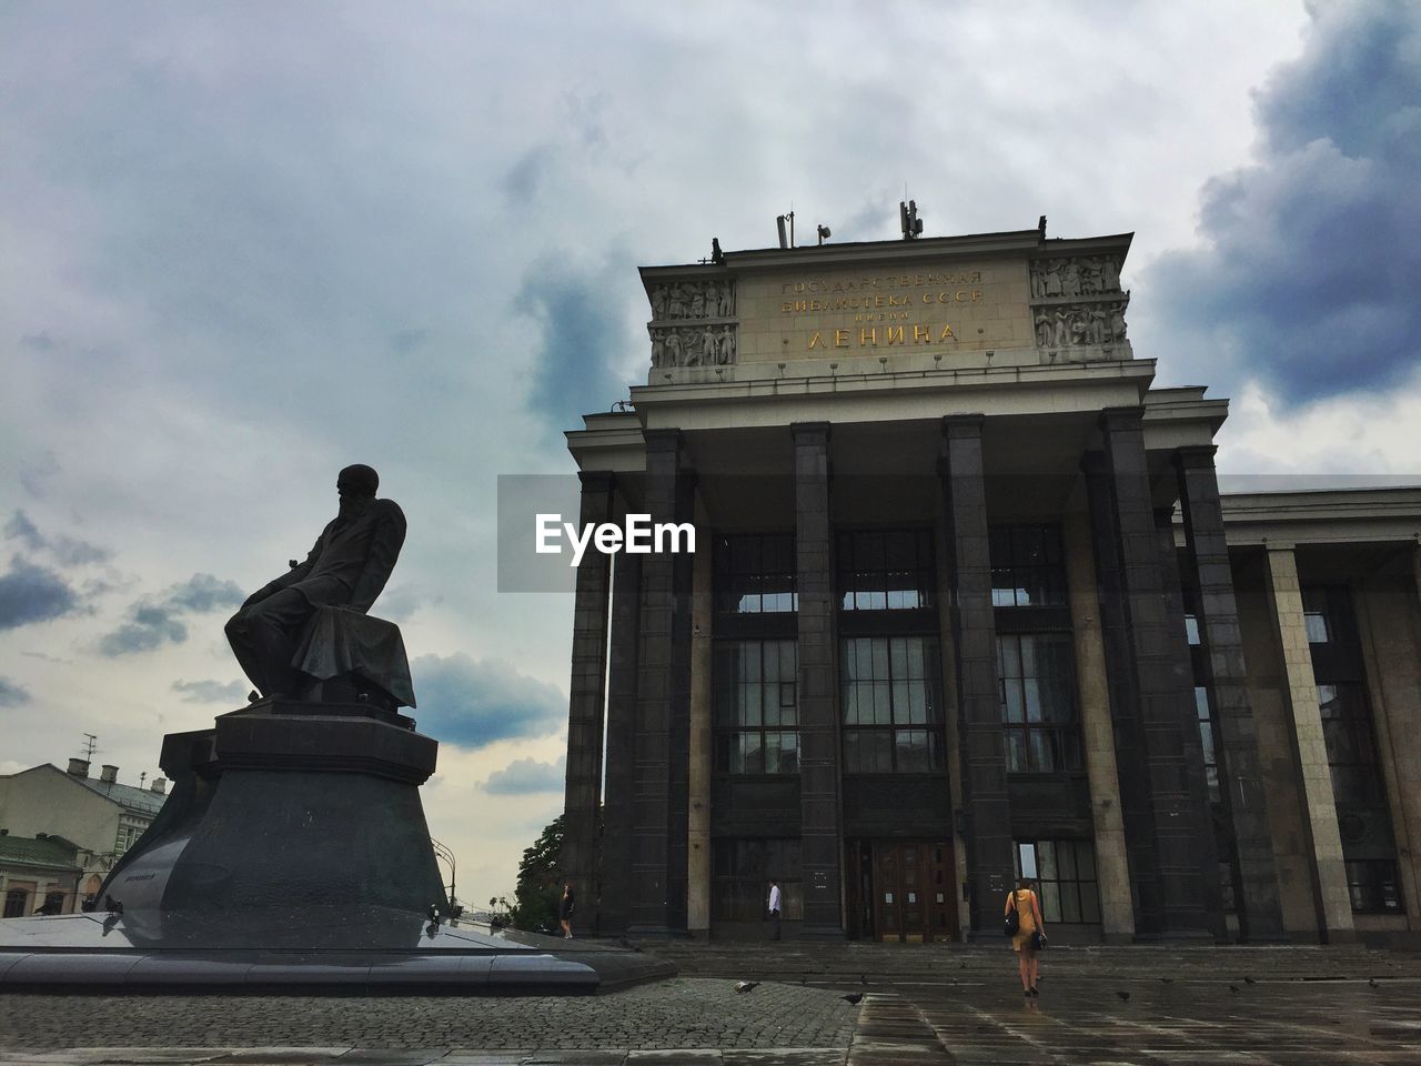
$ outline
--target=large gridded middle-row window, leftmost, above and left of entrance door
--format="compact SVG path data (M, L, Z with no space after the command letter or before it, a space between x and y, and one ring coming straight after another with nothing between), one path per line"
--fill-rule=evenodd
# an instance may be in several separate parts
M712 677L715 769L799 773L797 645L718 641Z

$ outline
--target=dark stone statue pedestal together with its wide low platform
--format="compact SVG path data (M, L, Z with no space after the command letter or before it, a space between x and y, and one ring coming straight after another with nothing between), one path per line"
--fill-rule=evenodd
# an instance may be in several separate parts
M431 921L449 911L419 803L436 752L367 704L260 701L168 735L172 795L99 910L0 922L0 992L588 995L675 975Z

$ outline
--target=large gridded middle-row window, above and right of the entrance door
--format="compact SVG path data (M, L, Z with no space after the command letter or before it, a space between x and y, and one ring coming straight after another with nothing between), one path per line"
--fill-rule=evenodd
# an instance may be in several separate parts
M1007 772L1081 770L1084 760L1070 634L998 635L996 675L1000 679Z

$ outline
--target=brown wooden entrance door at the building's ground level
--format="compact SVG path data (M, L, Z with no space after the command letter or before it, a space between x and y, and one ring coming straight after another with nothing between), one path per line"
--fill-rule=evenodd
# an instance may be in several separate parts
M863 908L872 924L863 934L880 941L921 944L953 940L958 932L952 895L952 846L934 840L865 841L860 854L868 860L870 905ZM864 854L867 853L867 854Z

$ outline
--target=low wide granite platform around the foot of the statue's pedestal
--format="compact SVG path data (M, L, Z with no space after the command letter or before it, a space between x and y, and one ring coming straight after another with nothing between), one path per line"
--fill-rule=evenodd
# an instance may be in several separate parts
M125 911L0 922L0 991L594 995L674 976L625 948L382 907Z

